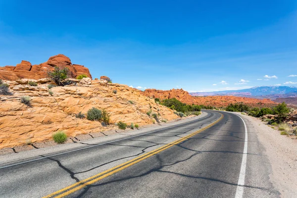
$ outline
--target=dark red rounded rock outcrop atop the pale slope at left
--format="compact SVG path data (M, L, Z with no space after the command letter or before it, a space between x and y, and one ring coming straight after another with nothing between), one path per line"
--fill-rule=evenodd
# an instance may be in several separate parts
M32 65L29 61L22 60L20 64L16 66L4 66L0 67L0 79L15 81L18 79L41 79L47 78L47 71L53 70L54 66L68 67L71 78L75 78L78 75L86 74L92 78L89 69L83 65L72 64L70 58L63 54L51 56L47 62L39 65Z

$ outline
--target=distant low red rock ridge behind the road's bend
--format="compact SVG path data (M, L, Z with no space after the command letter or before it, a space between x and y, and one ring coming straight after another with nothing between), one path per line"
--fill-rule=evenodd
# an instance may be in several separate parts
M273 106L277 104L270 99L252 99L246 97L234 97L234 96L207 96L207 97L192 97L188 92L183 89L172 89L172 90L155 90L147 89L142 92L143 95L149 98L159 99L172 99L176 98L181 102L187 104L203 104L211 105L215 107L224 107L230 103L244 102L250 106Z

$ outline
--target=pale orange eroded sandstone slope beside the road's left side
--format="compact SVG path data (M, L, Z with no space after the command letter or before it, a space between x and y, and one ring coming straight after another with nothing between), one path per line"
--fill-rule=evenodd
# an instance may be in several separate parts
M150 109L152 113L159 113L159 119L178 118L173 110L156 104L154 99L143 96L139 90L126 85L107 84L104 80L91 83L53 87L50 89L52 96L47 84L29 86L11 83L13 95L0 96L0 148L24 145L28 139L33 143L52 140L52 133L58 130L64 131L68 137L75 137L78 134L118 130L114 123L119 121L140 126L152 124L153 118L146 114ZM30 97L31 106L20 102L22 96ZM98 121L75 117L80 111L86 115L92 107L105 109L110 115L111 125L106 127Z

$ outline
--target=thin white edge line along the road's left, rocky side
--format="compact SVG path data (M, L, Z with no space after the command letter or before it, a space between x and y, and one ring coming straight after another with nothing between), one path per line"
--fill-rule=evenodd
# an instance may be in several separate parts
M114 140L114 141L107 142L107 143L101 143L101 144L99 144L99 145L94 145L94 146L90 146L90 147L85 147L85 148L78 148L78 149L74 149L74 150L69 150L69 151L66 151L66 152L61 152L61 153L57 153L57 154L53 154L53 155L49 155L49 156L46 156L46 157L41 157L41 158L37 158L37 159L32 159L32 160L28 160L28 161L23 161L23 162L16 163L16 164L10 164L10 165L7 165L7 166L2 166L2 167L0 167L0 169L2 169L2 168L7 168L7 167L11 167L11 166L16 166L16 165L20 165L20 164L24 164L24 163L28 163L28 162L32 162L32 161L37 161L37 160L41 160L41 159L45 159L45 158L49 158L49 157L53 157L53 156L57 156L57 155L62 155L62 154L66 154L66 153L69 153L69 152L75 152L75 151L78 151L78 150L83 150L83 149L87 149L87 148L98 147L98 146L106 145L106 144L109 144L109 143L114 143L114 142L118 142L118 141L122 141L122 140L127 140L127 139L135 138L135 137L138 137L138 136L147 135L147 134L150 134L150 133L155 133L155 132L158 132L158 131L161 131L161 130L171 129L171 128L174 128L174 127L177 127L177 126L181 126L181 125L185 125L185 124L190 124L190 123L192 123L192 122L197 122L198 120L207 118L207 117L209 117L209 116L210 116L210 113L208 113L208 115L207 115L206 117L202 117L202 118L199 118L199 119L197 119L197 120L193 120L193 121L186 122L186 123L183 123L183 124L178 124L178 125L175 125L175 126L172 126L172 127L167 127L167 128L159 129L159 130L156 130L156 131L151 131L151 132L148 132L148 133L144 133L144 134L140 134L140 135L136 135L136 136L131 136L131 137L128 137L128 138L123 138L123 139L120 139L120 140ZM7 163L9 163L9 162L7 162Z

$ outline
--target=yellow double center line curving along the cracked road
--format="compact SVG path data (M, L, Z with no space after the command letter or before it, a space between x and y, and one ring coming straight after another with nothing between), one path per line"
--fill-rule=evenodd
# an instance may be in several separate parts
M56 191L56 192L54 192L54 193L52 193L52 194L50 194L50 195L48 195L48 196L46 196L44 198L53 198L53 197L54 198L62 198L62 197L65 197L67 195L70 195L71 193L74 193L74 192L76 192L76 191L78 191L78 190L80 190L80 189L82 189L82 188L84 188L84 187L86 187L88 185L91 185L91 184L93 184L95 182L98 182L99 180L101 180L101 179L103 179L105 177L108 177L108 176L110 176L110 175L112 175L112 174L114 174L116 172L119 172L119 171L121 171L121 170L123 170L123 169L125 169L125 168L127 168L129 166L132 166L133 164L136 164L136 163L138 163L138 162L140 162L140 161L142 161L142 160L144 160L144 159L146 159L146 158L148 158L148 157L150 157L152 155L155 155L155 154L157 154L157 153L159 153L159 152L161 152L161 151L163 151L163 150L165 150L167 148L170 148L170 147L172 147L174 145L177 145L177 144L179 144L179 143L181 143L181 142L195 136L196 134L200 133L201 131L203 131L203 130L213 126L217 122L219 122L221 119L223 119L223 117L224 117L223 114L221 114L220 119L218 119L217 121L215 121L212 124L208 125L207 127L204 127L203 129L200 129L200 130L198 130L198 131L196 131L194 133L191 133L191 134L189 134L189 135L187 135L187 136L185 136L183 138L180 138L180 139L178 139L178 140L176 140L176 141L174 141L172 143L169 143L169 144L167 144L167 145L165 145L163 147L157 148L157 149L152 150L152 151L150 151L150 152L148 152L146 154L140 155L139 157L136 157L136 158L134 158L134 159L132 159L130 161L127 161L125 163L122 163L120 165L117 165L117 166L115 166L115 167L113 167L111 169L103 171L103 172L101 172L101 173L99 173L97 175L94 175L94 176L89 177L89 178L87 178L85 180L77 182L77 183L75 183L73 185L70 185L70 186L68 186L66 188L63 188L63 189L61 189L59 191Z

